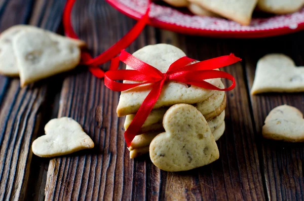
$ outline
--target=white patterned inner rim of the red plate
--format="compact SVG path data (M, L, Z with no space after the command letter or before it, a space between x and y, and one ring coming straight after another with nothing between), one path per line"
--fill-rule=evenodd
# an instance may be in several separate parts
M145 13L147 6L147 0L107 1L112 5L124 5L126 8L128 8L128 11L125 11L125 13L137 18ZM299 24L304 23L304 8L293 14L278 15L269 18L254 18L252 19L249 26L243 26L237 22L216 17L188 15L180 12L177 9L157 4L151 5L149 16L150 18L154 18L158 21L185 28L201 29L207 31L254 32L261 30L278 29L283 27L297 29Z

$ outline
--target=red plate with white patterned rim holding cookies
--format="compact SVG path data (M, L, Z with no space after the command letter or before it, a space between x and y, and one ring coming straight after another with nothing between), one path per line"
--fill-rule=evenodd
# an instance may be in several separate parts
M127 16L139 19L144 13L147 0L106 0ZM150 25L171 31L213 37L267 37L292 33L304 29L304 8L300 11L268 18L254 18L250 26L216 18L200 17L181 12L172 7L152 4Z

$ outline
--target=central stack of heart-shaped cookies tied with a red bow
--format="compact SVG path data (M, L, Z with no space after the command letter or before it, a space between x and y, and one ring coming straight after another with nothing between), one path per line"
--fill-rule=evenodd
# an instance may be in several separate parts
M178 60L181 57L184 57L185 54L174 46L167 44L157 44L146 46L135 52L133 56L165 73L174 61ZM128 65L126 69L132 70L132 68ZM216 87L224 88L220 78L207 79L206 82ZM124 83L134 82L124 81ZM124 125L126 130L130 126L135 113L139 109L140 105L150 90L151 85L143 85L123 91L121 93L117 107L117 113L118 116L126 116ZM213 148L217 150L215 140L218 140L225 130L225 106L226 98L224 92L203 89L196 86L188 86L186 84L174 81L166 82L158 101L156 102L153 110L150 112L149 116L145 120L145 123L140 129L141 134L137 135L134 138L129 147L130 157L134 158L149 151L150 156L151 154L156 154L154 155L155 157L160 155L166 155L166 157L169 157L170 155L165 153L165 149L162 149L163 151L160 153L158 151L158 148L155 148L162 146L159 145L156 140L162 141L162 137L160 136L166 136L165 138L168 138L167 144L170 144L171 140L172 143L174 140L176 140L174 149L179 149L178 147L175 147L177 146L176 144L178 144L178 146L182 144L180 148L184 147L183 150L188 152L189 158L192 158L192 162L187 166L189 169L192 169L195 166L202 166L202 164L196 163L196 155L199 153L204 155L205 153L203 152L206 152L209 159L213 158L213 156L215 159L217 159L216 157L218 156L216 156L215 153L213 154ZM166 134L161 134L163 131L165 131ZM213 135L210 136L209 134ZM174 138L173 136L176 135L179 136L178 139L169 140L170 138ZM184 137L180 138L180 136ZM191 141L191 136L198 139ZM154 147L153 152L151 152L152 145ZM205 149L205 151L201 149L197 150L196 153L194 150L191 152L189 147L196 146L209 147L210 149L207 149L212 152L213 156L211 157L207 149ZM170 150L172 151L172 149ZM155 151L157 151L157 153L155 153ZM176 154L177 153L178 151ZM160 157L163 159L166 158L164 156ZM186 157L184 153L183 157ZM159 163L159 159L160 158L156 159L158 161L157 163ZM213 160L215 160L210 159L209 161L209 159L208 163L211 163ZM167 158L166 160L170 159ZM157 165L156 162L154 163ZM168 164L168 162L166 163ZM208 163L206 162L206 164ZM159 165L157 166L163 170L169 171L185 170L178 168L168 169L163 168Z

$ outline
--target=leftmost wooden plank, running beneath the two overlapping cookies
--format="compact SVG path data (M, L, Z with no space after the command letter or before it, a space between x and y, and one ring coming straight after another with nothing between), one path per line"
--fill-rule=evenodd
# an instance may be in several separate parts
M56 9L60 6L59 1L44 2L53 6L48 7L47 10L50 12L47 15L41 12L37 16L52 22L48 28L56 31L61 19ZM60 3L62 9L64 2ZM2 30L14 24L26 23L32 12L33 1L13 0L3 5L6 5L7 8L1 9L4 12L1 18ZM54 12L56 15L51 16ZM57 21L59 22L56 23ZM3 80L3 78L0 79ZM7 78L4 79L5 82L8 82ZM32 186L27 186L32 158L30 146L41 126L44 114L42 111L46 107L43 103L48 98L47 91L50 92L47 89L47 83L51 79L20 89L19 79L15 78L11 79L4 89L5 93L0 108L0 124L3 125L0 127L0 200L22 200L25 197L26 189ZM57 79L56 82L59 80Z

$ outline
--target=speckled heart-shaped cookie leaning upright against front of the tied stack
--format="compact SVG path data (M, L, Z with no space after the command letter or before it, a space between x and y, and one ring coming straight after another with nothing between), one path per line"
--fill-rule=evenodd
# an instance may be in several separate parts
M149 147L158 168L175 172L198 168L218 159L219 152L206 119L188 104L176 104L165 113L166 132L157 135Z

